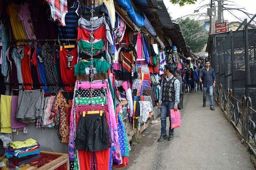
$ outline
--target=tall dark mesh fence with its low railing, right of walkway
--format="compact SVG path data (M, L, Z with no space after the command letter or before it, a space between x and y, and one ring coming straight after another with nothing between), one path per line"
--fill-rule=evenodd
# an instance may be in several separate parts
M255 17L212 44L211 65L218 84L214 98L256 156L256 29L248 29Z

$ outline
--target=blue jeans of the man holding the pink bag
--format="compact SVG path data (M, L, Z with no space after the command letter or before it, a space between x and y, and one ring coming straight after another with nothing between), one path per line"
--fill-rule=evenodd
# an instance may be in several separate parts
M169 126L169 133L174 132L174 128L171 129L171 117L170 117L170 110L173 109L174 102L167 102L167 101L162 101L161 104L161 136L166 135L166 117L167 114L169 116L170 120L170 126Z

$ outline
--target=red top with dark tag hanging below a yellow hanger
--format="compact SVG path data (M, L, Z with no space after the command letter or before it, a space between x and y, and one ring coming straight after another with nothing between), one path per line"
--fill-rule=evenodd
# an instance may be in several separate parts
M59 51L60 53L60 74L61 79L64 84L75 84L76 77L74 76L74 66L77 63L77 49L74 48L70 52L66 50L65 48L62 48L62 50ZM70 63L70 68L68 67L68 55L72 56L72 61ZM66 87L66 90L72 90L74 91L74 87Z

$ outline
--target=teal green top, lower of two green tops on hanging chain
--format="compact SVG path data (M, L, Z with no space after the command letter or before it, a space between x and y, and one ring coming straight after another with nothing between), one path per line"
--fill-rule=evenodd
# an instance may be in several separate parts
M91 61L81 60L75 66L75 76L79 73L86 74L85 68L90 67ZM106 60L94 59L93 67L96 68L97 73L105 73L108 71L110 64Z

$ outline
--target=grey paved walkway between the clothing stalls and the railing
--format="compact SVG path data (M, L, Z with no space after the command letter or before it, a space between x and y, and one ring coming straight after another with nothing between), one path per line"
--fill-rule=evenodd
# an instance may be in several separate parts
M159 122L150 124L141 142L132 146L129 164L121 170L254 170L250 154L215 105L202 107L202 92L186 94L182 127L172 141L157 142Z

